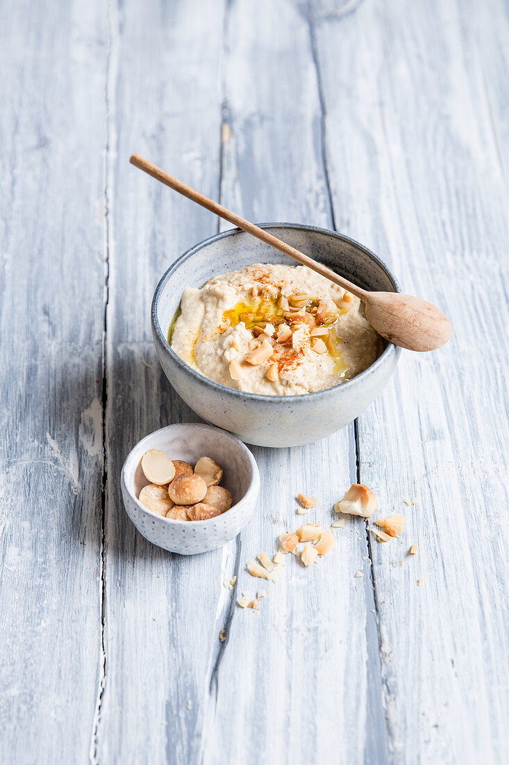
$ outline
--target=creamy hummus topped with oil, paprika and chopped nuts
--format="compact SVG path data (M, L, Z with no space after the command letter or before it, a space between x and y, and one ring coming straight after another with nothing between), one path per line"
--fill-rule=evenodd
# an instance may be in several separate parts
M269 396L332 388L383 350L361 301L303 265L255 264L186 288L168 341L209 379Z

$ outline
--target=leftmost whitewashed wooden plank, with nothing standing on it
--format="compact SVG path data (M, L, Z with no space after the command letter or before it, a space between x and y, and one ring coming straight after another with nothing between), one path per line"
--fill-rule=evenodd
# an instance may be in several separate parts
M0 50L0 760L89 760L100 648L102 3Z

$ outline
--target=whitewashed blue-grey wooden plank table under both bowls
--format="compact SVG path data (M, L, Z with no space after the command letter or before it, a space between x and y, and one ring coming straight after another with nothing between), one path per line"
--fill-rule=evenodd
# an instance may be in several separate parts
M507 762L508 34L501 0L4 8L2 763ZM254 448L257 516L196 558L145 542L118 478L196 419L149 308L218 221L132 151L252 220L353 236L454 327L355 427ZM253 589L295 493L329 521L358 478L400 539L347 522L235 607L222 571Z

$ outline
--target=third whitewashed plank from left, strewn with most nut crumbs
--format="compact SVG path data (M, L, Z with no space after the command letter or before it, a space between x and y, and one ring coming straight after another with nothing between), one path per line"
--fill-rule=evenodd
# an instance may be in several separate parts
M222 203L250 220L332 225L310 33L292 2L229 7ZM281 532L336 519L332 505L356 478L353 426L318 444L253 451L262 476L258 518L232 551L232 572L237 596L258 588L268 594L260 614L232 604L203 762L382 762L386 731L362 523L347 520L336 549L314 568L287 556L276 584L245 570L258 552L274 555ZM319 497L309 515L296 513L298 492Z

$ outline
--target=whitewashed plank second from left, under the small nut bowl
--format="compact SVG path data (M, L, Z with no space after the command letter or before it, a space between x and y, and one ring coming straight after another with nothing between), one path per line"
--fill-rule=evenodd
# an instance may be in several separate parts
M214 233L206 210L128 164L133 151L214 197L219 190L222 5L140 4L110 12L109 303L105 676L96 761L196 762L219 648L222 551L171 555L125 516L122 463L170 422L193 422L151 340L160 276Z

